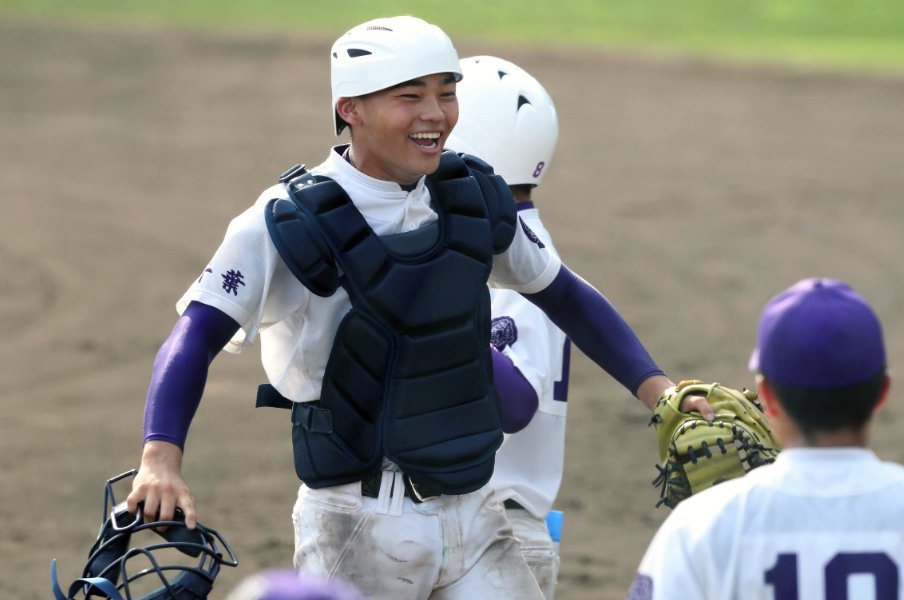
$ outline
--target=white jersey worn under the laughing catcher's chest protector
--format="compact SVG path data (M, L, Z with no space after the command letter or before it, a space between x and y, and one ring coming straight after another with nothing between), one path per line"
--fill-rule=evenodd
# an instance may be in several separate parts
M311 172L341 185L377 235L412 231L437 219L423 177L407 192L358 171L342 158L345 148L333 148ZM232 317L241 330L227 344L230 352L240 352L260 334L261 362L270 383L286 398L306 402L320 397L333 338L351 303L341 288L327 298L312 294L280 258L264 210L271 199L286 197L285 186L275 185L232 220L207 268L176 308L181 313L198 301ZM509 249L494 257L490 285L538 292L560 266L555 254L518 227Z

